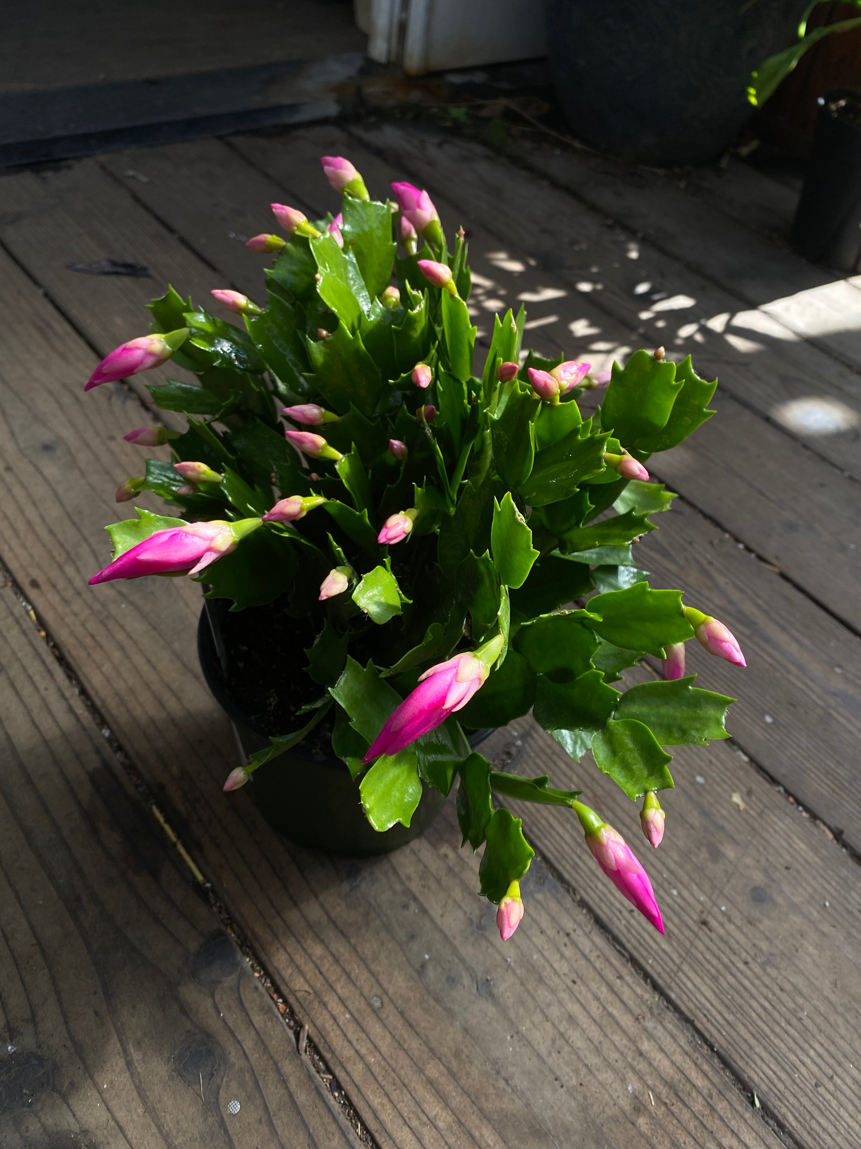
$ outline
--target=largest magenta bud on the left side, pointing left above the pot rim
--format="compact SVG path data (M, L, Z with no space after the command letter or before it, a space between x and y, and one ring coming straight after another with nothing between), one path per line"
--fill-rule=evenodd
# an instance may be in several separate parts
M259 525L259 519L246 520ZM145 574L169 574L188 571L196 574L216 558L234 549L236 535L234 524L214 519L211 523L186 523L156 531L148 539L115 558L113 563L90 579L109 583L117 578L142 578ZM247 533L243 532L243 533Z

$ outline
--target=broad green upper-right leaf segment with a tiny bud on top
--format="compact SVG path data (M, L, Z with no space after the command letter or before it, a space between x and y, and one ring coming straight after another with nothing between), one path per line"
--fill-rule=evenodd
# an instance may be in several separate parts
M635 352L622 370L613 363L600 422L623 447L634 447L645 435L667 423L682 380L676 379L672 360L657 360L649 352Z

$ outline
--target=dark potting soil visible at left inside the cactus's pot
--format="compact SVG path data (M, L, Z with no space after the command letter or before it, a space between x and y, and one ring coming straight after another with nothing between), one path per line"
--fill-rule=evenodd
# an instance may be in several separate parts
M222 634L227 651L227 691L233 701L267 734L289 734L305 725L310 711L296 716L326 693L304 672L305 648L315 640L310 618L292 618L287 597L264 607L226 611ZM332 754L334 717L329 711L302 741L312 754Z

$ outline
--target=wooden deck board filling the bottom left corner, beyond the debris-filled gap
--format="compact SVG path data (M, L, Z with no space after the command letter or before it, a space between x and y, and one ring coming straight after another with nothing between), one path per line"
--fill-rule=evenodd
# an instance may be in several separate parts
M8 587L0 668L0 1142L355 1144Z

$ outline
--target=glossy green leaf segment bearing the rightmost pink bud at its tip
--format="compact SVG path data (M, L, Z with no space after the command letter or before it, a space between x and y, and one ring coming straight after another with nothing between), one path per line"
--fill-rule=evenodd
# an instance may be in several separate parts
M693 638L693 627L682 612L681 591L652 591L647 583L636 583L627 591L599 594L589 601L589 610L602 620L590 626L607 642L629 650L647 650L664 657L664 646Z

